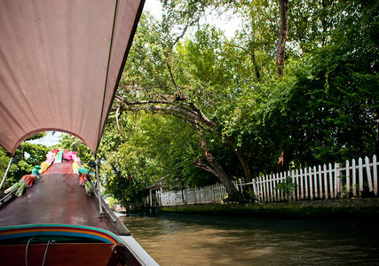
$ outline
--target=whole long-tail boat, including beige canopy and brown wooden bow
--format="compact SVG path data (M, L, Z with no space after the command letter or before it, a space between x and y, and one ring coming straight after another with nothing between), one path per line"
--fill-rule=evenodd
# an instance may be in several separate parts
M36 133L69 133L98 179L88 197L63 160L2 199L0 265L156 264L101 198L97 159L144 2L0 0L0 145L12 157Z

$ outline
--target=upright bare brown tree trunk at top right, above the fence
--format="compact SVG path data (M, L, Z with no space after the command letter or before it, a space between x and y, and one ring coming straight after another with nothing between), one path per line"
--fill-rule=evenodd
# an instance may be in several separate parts
M280 29L279 40L276 50L276 73L284 75L284 56L286 51L286 41L288 35L288 0L279 0Z

